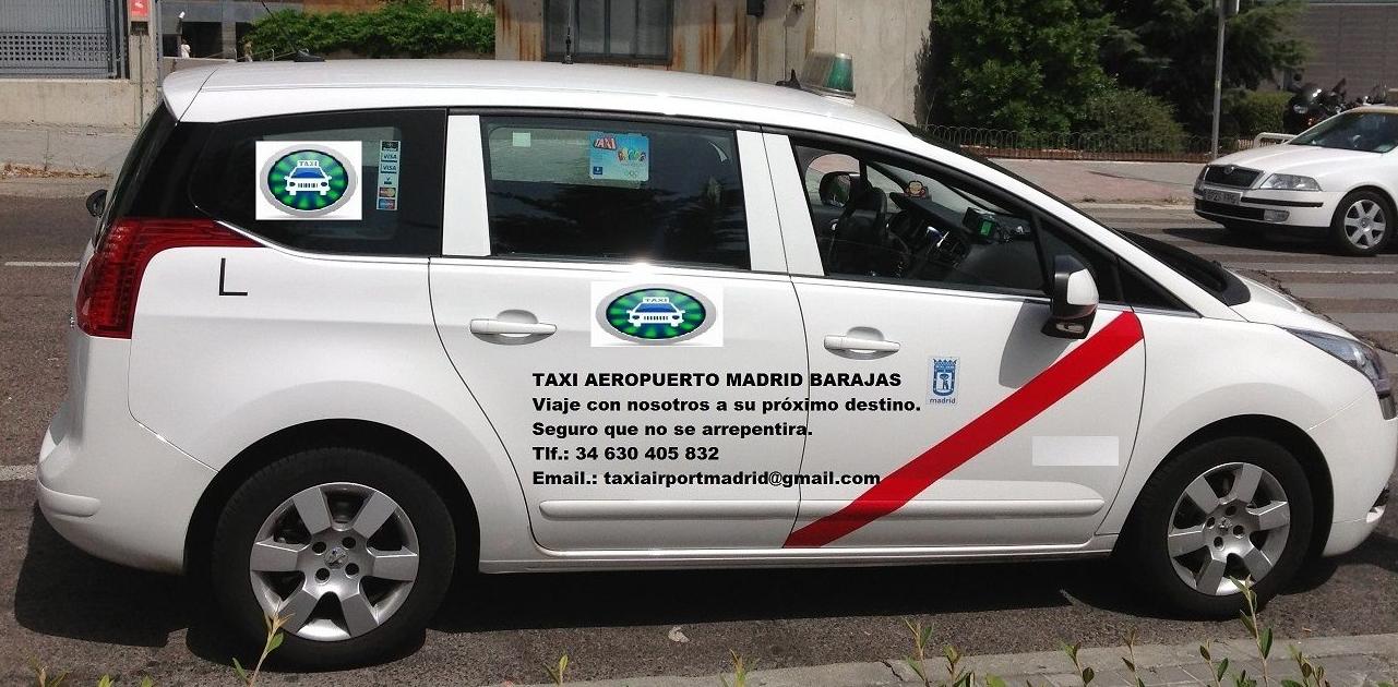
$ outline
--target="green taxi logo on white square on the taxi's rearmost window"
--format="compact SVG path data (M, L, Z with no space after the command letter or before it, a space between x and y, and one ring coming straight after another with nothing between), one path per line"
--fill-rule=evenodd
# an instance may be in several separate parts
M361 219L359 141L257 141L257 219Z

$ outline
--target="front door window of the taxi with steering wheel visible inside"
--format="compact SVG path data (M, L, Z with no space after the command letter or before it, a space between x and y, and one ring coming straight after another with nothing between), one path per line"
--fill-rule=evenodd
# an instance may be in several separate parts
M1033 216L932 169L797 145L829 275L1042 293Z

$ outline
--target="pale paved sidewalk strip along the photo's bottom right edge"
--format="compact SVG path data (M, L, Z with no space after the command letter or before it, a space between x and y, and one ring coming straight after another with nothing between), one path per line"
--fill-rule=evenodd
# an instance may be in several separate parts
M1290 647L1299 647L1307 658L1325 667L1325 679L1335 687L1362 687L1398 679L1398 634L1371 634L1359 637L1310 638L1289 641L1278 638L1268 659L1268 674L1274 687L1282 680L1300 681L1296 663L1290 659ZM939 651L939 648L930 648ZM1121 658L1125 647L1082 649L1078 659L1083 667L1096 673L1093 686L1131 687L1134 677ZM1233 674L1247 670L1248 679L1258 680L1262 670L1257 659L1257 648L1251 640L1227 640L1215 642L1211 651L1213 660L1229 659L1229 674L1223 684L1233 684ZM1137 669L1146 687L1184 687L1213 684L1208 665L1199 656L1198 645L1137 647ZM751 660L751 659L749 659ZM761 656L758 658L761 666ZM1032 687L1081 686L1082 679L1074 672L1072 663L1062 652L1001 653L990 656L967 656L963 670L976 673L977 684L984 684L987 674L997 676L1005 684ZM927 659L927 672L932 683L946 681L946 665L939 658ZM568 684L579 687L714 687L734 684L733 673L705 677L636 677L628 680L601 680ZM914 687L923 681L907 667L903 659L871 663L837 663L815 667L780 667L754 670L748 673L749 687L865 687L899 686Z

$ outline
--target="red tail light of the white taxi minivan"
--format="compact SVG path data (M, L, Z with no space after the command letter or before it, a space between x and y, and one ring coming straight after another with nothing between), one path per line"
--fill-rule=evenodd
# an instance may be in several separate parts
M131 338L141 275L157 253L185 247L257 247L211 219L123 218L112 223L88 260L78 300L78 327L91 337Z

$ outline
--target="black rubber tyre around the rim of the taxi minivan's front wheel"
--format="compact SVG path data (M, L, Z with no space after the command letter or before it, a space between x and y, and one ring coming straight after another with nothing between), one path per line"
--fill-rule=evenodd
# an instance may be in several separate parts
M1241 593L1209 595L1186 584L1166 542L1167 532L1179 526L1176 505L1187 498L1186 489L1197 478L1230 464L1248 464L1267 471L1275 478L1290 507L1289 532L1282 538L1285 547L1272 561L1271 570L1261 579L1257 579L1253 588L1260 603L1265 603L1276 595L1306 560L1314 528L1314 500L1300 462L1282 445L1265 438L1219 437L1199 443L1172 457L1146 480L1117 546L1117 563L1127 568L1128 578L1135 579L1146 598L1158 599L1163 610L1172 614L1229 619L1237 617L1237 613L1246 607ZM1225 489L1227 489L1226 485ZM1215 492L1218 493L1219 489ZM1222 532L1218 533L1223 538L1230 533L1225 525L1227 521L1219 518L1216 526ZM1216 532L1211 528L1205 528L1205 531ZM1253 542L1251 533L1244 536ZM1262 540L1265 542L1265 539ZM1213 543L1213 546L1218 545ZM1181 566L1187 567L1191 556L1215 553L1208 549L1208 545L1198 552L1181 556ZM1227 577L1253 577L1246 574L1239 559L1229 559L1229 570Z

